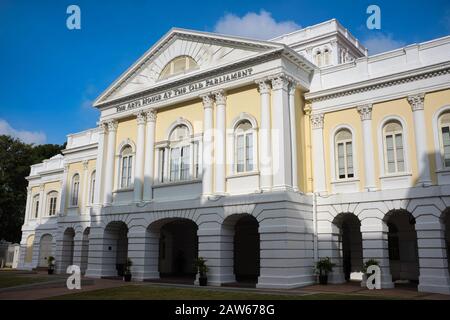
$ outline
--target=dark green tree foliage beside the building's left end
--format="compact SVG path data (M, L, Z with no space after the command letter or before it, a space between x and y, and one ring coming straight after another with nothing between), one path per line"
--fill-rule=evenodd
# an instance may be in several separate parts
M65 145L32 145L0 135L0 239L19 242L25 216L30 165L61 152Z

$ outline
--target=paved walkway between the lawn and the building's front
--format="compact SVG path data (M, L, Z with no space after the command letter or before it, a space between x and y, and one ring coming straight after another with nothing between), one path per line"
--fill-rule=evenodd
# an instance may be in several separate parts
M0 271L2 272L2 271ZM16 273L17 274L17 273ZM20 272L19 272L20 274ZM25 273L23 273L25 274ZM27 276L43 277L47 276L44 272L37 272L30 274L26 273ZM0 288L0 300L35 300L35 299L45 299L55 296L60 296L64 294L70 294L75 292L70 291L66 287L66 275L52 275L48 276L49 281L33 283L28 285L21 285L10 288ZM141 286L163 286L163 287L173 287L173 288L191 288L198 289L198 286L193 286L189 284L175 284L175 283L152 283L152 282L132 282L133 285ZM81 290L76 290L76 292L86 292L98 289L115 288L129 285L122 280L112 280L112 279L92 279L92 278L82 278ZM298 289L252 289L252 288L242 288L242 287L202 287L202 289L217 290L217 291L254 291L260 293L274 293L274 294L288 294L288 295L309 295L315 293L332 293L332 294L357 294L365 296L384 296L390 298L400 298L400 299L431 299L431 300L450 300L450 295L432 294L418 292L416 288L413 287L402 287L395 289L383 289L383 290L368 290L367 288L362 288L359 283L346 283L346 284L329 284L329 285L312 285L308 287L298 288Z

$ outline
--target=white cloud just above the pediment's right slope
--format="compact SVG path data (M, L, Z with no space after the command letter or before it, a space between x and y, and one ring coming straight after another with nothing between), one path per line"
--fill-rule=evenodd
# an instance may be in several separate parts
M216 23L214 32L268 40L301 27L294 21L275 21L270 12L249 12L242 18L228 13Z

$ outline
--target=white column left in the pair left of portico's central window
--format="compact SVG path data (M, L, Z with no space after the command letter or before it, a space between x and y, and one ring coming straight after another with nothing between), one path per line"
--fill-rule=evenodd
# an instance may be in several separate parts
M144 153L145 153L145 114L138 112L137 121L137 139L136 139L136 160L134 169L133 198L134 202L142 201L142 189L144 182Z

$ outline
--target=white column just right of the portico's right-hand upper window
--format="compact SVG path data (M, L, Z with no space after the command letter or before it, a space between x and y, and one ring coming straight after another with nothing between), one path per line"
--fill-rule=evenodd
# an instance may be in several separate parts
M263 191L272 189L272 137L270 132L270 85L266 81L258 81L261 97L261 124L259 128L259 170L260 188ZM233 149L234 150L234 149Z

